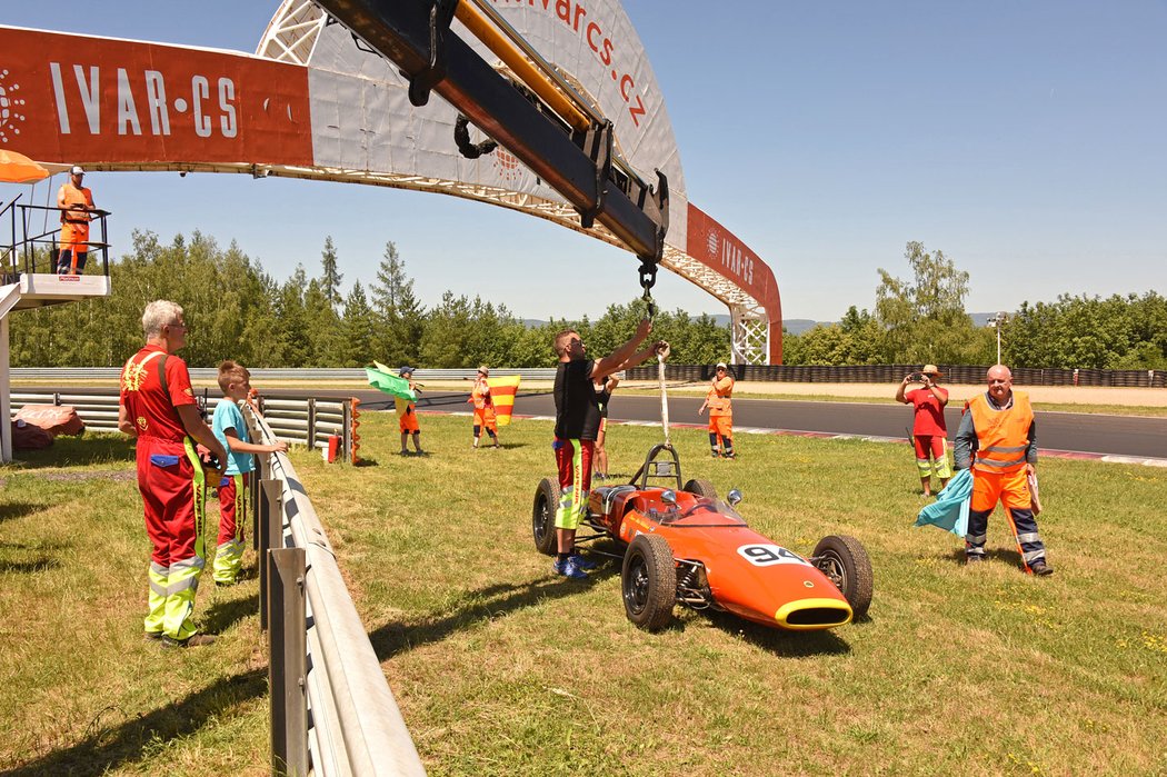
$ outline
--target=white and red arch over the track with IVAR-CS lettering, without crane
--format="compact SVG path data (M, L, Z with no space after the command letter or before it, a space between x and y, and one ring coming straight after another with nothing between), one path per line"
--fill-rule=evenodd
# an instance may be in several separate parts
M669 181L662 265L724 302L733 360L781 363L782 307L770 268L689 202L661 90L619 0L462 0L505 20L614 124L617 160ZM546 6L546 7L545 7ZM393 63L310 0L284 0L256 55L0 27L0 146L96 170L193 170L319 178L438 191L585 229L564 197L499 147L463 158L457 112L415 107ZM506 66L459 21L487 62ZM471 127L471 140L484 136Z

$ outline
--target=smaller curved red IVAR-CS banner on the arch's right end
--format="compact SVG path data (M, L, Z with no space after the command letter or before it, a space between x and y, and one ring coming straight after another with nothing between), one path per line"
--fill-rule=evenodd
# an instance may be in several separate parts
M689 203L686 252L757 300L770 318L770 364L782 364L782 298L774 272L708 214Z

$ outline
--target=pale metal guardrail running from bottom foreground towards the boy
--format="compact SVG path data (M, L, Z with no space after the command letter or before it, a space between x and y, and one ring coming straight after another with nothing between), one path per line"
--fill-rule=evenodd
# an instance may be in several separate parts
M250 408L247 416L257 440L271 442L275 439L275 432L261 416ZM327 776L425 775L413 738L341 576L336 554L295 468L286 455L271 454L261 471L265 477L259 489L265 483L279 483L284 548L302 548L306 554L308 656L305 688L310 710L307 728L310 771ZM260 606L266 607L266 603ZM275 609L270 610L273 617ZM271 624L273 631L277 625Z

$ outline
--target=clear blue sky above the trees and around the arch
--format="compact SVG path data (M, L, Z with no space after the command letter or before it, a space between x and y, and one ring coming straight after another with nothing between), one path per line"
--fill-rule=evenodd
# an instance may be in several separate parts
M0 23L253 51L277 6L107 0L65 13L9 1ZM664 91L690 200L774 270L785 317L871 308L876 268L907 275L908 240L970 272L974 312L1167 293L1167 0L624 7ZM449 289L522 317L575 317L638 293L630 254L453 197L243 175L88 182L116 214L119 252L132 229L197 229L285 278L296 262L317 272L331 235L345 286L368 286L393 240L426 304ZM0 184L0 197L20 190ZM676 278L656 296L725 313Z

